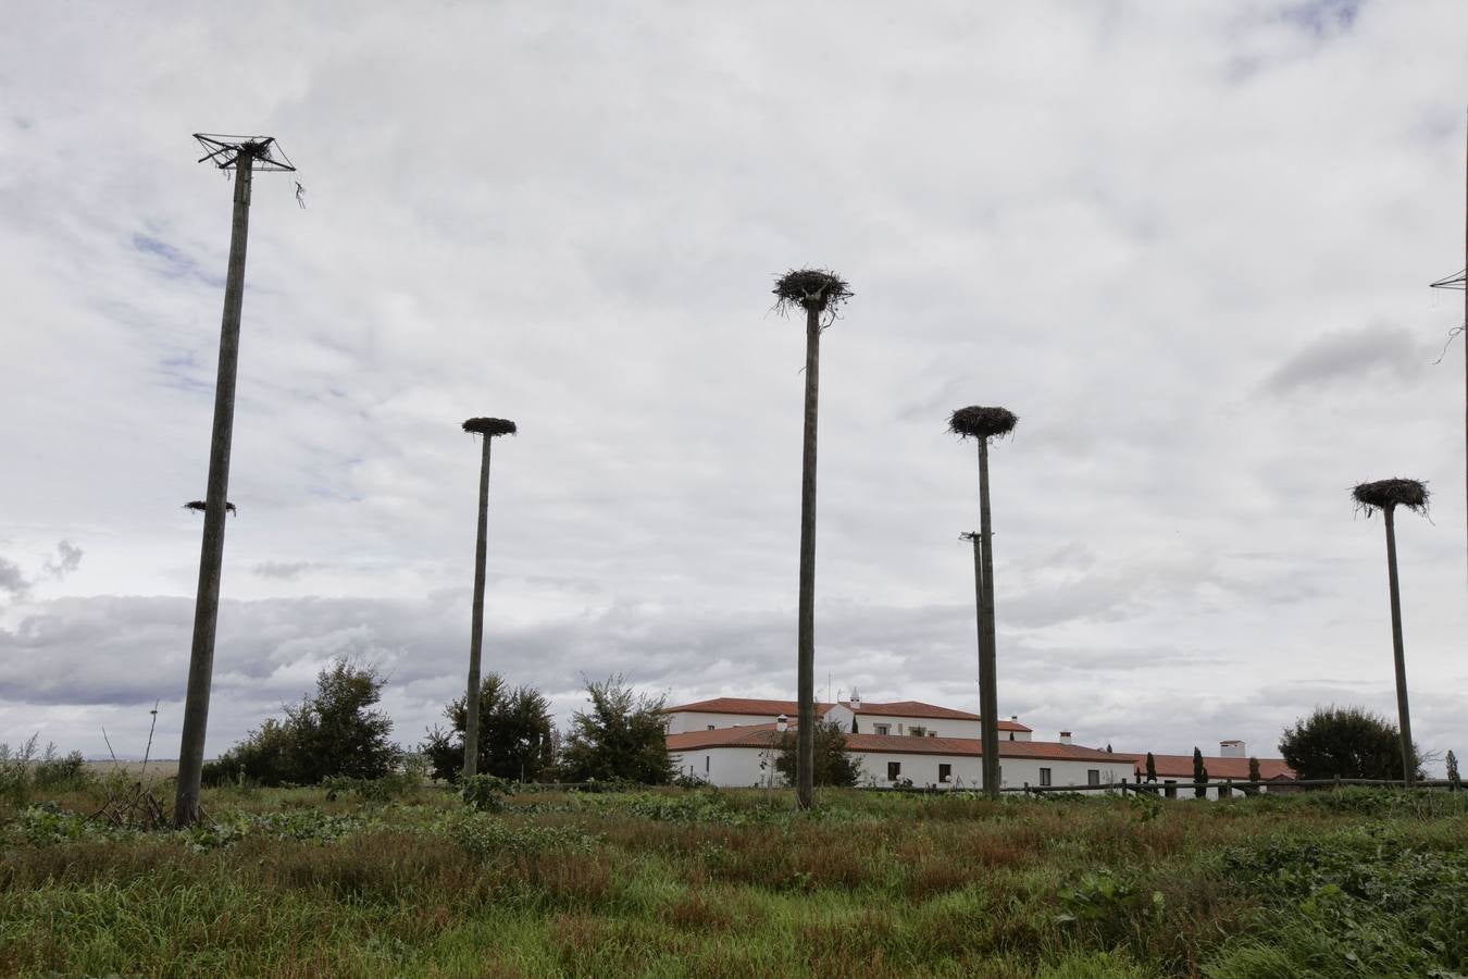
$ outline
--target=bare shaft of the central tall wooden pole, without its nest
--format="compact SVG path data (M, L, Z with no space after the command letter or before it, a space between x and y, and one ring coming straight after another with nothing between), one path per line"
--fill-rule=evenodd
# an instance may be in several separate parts
M806 427L800 461L800 611L797 625L796 804L815 801L816 753L816 408L821 386L821 308L806 301Z

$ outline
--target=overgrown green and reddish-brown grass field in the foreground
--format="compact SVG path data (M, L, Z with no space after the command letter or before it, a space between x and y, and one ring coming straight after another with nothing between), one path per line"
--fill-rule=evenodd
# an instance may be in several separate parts
M1468 972L1464 794L360 794L210 790L188 832L0 803L0 973Z

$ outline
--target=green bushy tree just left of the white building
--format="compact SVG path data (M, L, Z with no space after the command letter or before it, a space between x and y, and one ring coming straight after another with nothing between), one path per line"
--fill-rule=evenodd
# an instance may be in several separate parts
M575 782L625 779L644 785L672 781L665 697L637 694L622 677L587 681L590 710L577 710L561 750L561 768Z

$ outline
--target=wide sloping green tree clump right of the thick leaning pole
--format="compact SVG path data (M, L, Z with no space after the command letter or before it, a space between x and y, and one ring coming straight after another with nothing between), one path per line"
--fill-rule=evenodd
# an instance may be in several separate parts
M388 735L392 719L368 710L386 680L376 666L338 659L317 674L316 696L286 705L244 741L207 766L211 782L245 778L261 785L314 785L329 775L382 778L401 751Z

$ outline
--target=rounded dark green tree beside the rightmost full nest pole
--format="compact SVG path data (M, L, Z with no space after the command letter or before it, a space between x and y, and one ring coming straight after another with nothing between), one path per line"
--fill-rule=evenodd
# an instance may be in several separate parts
M1362 707L1315 707L1293 728L1284 728L1280 754L1299 778L1402 778L1396 727ZM1415 746L1411 757L1415 772Z

